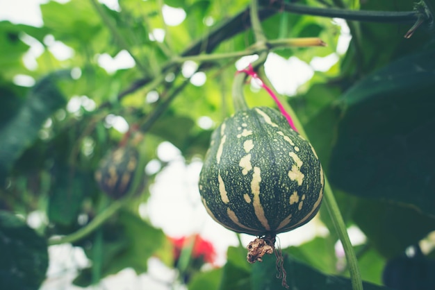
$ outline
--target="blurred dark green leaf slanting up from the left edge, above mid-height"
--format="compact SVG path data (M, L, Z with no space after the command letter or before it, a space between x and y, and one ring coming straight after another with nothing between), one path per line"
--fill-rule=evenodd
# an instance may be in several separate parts
M29 92L19 112L7 123L0 124L0 180L6 177L13 163L31 146L40 127L54 111L65 105L56 80L69 77L62 71L42 78Z

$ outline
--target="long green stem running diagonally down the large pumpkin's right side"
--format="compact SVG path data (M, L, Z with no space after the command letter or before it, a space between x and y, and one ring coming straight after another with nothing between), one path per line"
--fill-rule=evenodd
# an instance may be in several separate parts
M262 76L262 80L265 83L265 85L268 85L268 87L273 89L272 84L265 76L264 67L260 67L258 73ZM304 130L304 127L302 126L302 123L297 118L297 115L295 114L293 108L291 108L287 100L284 99L280 94L277 94L276 92L275 94L280 99L279 101L281 101L282 105L284 106L288 114L290 114L290 116L292 117L293 122L295 123L295 126L299 134L302 135L302 137L304 137L306 140L309 140ZM358 259L356 259L354 248L352 247L352 244L349 239L349 235L347 234L347 228L343 220L343 216L341 215L341 212L338 208L336 198L334 196L334 193L332 192L331 186L329 185L327 176L325 176L324 195L325 195L324 198L325 205L327 206L327 210L331 216L331 220L334 223L334 227L336 228L338 238L340 239L341 244L343 244L343 249L345 250L347 266L350 271L350 279L352 282L352 289L362 290L363 282L361 280L361 273L359 273Z

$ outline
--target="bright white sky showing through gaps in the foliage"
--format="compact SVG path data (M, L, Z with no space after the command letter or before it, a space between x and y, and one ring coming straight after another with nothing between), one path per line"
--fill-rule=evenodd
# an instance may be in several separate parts
M117 0L105 0L101 2L106 3L106 5L113 10L119 8ZM42 26L42 17L39 8L40 3L47 3L47 1L0 0L0 20L8 19L14 23ZM166 7L164 12L165 15L172 15L165 17L168 25L177 25L186 17L186 13L183 10L170 7ZM349 40L349 37L343 36L341 38L342 44L340 44L340 52L347 49ZM32 53L34 55L38 55L38 51L41 49L36 46L35 44L35 47L33 47ZM70 53L73 53L68 51L68 48L65 47L64 44L56 43L56 40L53 40L50 49L52 49L55 56L59 58L67 58ZM54 51L57 52L55 53ZM32 56L26 57L29 58L26 62L31 66ZM33 58L34 57L35 56L33 56ZM337 56L331 55L321 60L313 60L311 65L307 65L305 62L295 57L284 60L276 54L271 54L266 63L266 70L268 71L272 83L277 87L280 93L294 94L297 86L309 80L314 70L326 70L333 65L337 59ZM249 60L249 58L245 58L241 63L243 64L246 60ZM120 53L115 58L110 58L110 56L103 54L98 59L99 65L109 72L115 71L115 69L120 68L121 65L125 66L127 64L127 67L132 67L134 65L132 61L131 56L126 52ZM247 65L247 63L243 65ZM277 66L279 66L279 69L274 69L274 67ZM183 67L184 72L188 70L188 65L186 65L186 68ZM297 74L295 71L297 71ZM186 74L187 73L188 72L186 72ZM80 74L81 72L78 71L77 76L79 77ZM292 79L293 82L288 82L289 78ZM26 80L24 79L23 81ZM197 83L194 84L202 85L205 81L206 75L201 74L197 76L197 80L195 80ZM31 85L31 83L28 83L28 85ZM92 100L85 99L84 101L92 105ZM77 102L83 102L83 97L72 99L69 106L72 108ZM116 117L113 116L112 119L115 120ZM203 121L208 121L209 124L210 120L204 119ZM117 123L122 124L122 120ZM169 143L163 143L159 146L158 155L162 160L168 160L171 163L170 166L166 167L158 175L156 183L151 186L151 198L149 198L147 205L140 207L140 214L150 219L155 226L162 228L168 235L173 237L196 232L202 234L204 238L213 242L217 248L219 263L223 264L227 247L229 245L237 245L238 241L233 232L224 229L221 225L217 225L217 223L206 214L200 202L197 181L202 163L197 161L186 165L183 162L179 150ZM43 219L40 214L35 213L31 215L29 223L38 223L38 220ZM304 240L309 240L315 234L326 233L327 230L322 225L312 222L292 232L280 234L279 241L282 247L286 247L300 244ZM252 240L252 237L244 234L242 240L246 246L249 241ZM51 246L49 253L51 255L48 272L50 279L47 280L41 290L77 289L70 285L70 281L75 275L74 268L76 266L83 267L88 263L81 249L72 248L68 245ZM121 289L120 285L122 285L122 289L125 290L149 289L149 287L156 290L167 289L166 287L162 287L162 284L153 282L151 276L157 277L158 279L162 279L162 277L163 279L167 279L168 277L173 277L174 273L170 269L165 268L165 266L156 261L156 259L151 259L149 263L150 275L136 277L136 274L134 274L131 269L126 269L122 271L120 275L115 275L104 280L102 282L104 289Z

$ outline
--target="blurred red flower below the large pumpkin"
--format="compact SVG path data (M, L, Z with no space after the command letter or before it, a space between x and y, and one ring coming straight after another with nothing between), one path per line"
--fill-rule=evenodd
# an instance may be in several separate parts
M181 250L190 246L193 241L192 258L202 259L206 263L214 264L216 258L216 251L213 244L210 241L202 239L199 234L194 234L190 237L170 238L172 245L174 246L174 260L177 263Z

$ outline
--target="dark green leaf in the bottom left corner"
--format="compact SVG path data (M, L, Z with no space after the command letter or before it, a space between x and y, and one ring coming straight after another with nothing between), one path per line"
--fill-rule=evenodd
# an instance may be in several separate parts
M48 268L47 241L5 211L0 211L0 253L2 289L39 289Z

